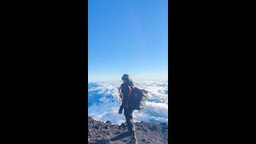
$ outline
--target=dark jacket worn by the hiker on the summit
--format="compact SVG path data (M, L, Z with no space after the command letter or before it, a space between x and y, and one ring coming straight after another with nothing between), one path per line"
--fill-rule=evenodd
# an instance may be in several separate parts
M122 83L121 90L123 94L123 100L122 100L122 106L121 108L129 108L129 91L130 89L134 88L134 82L132 80L129 80L127 82Z

